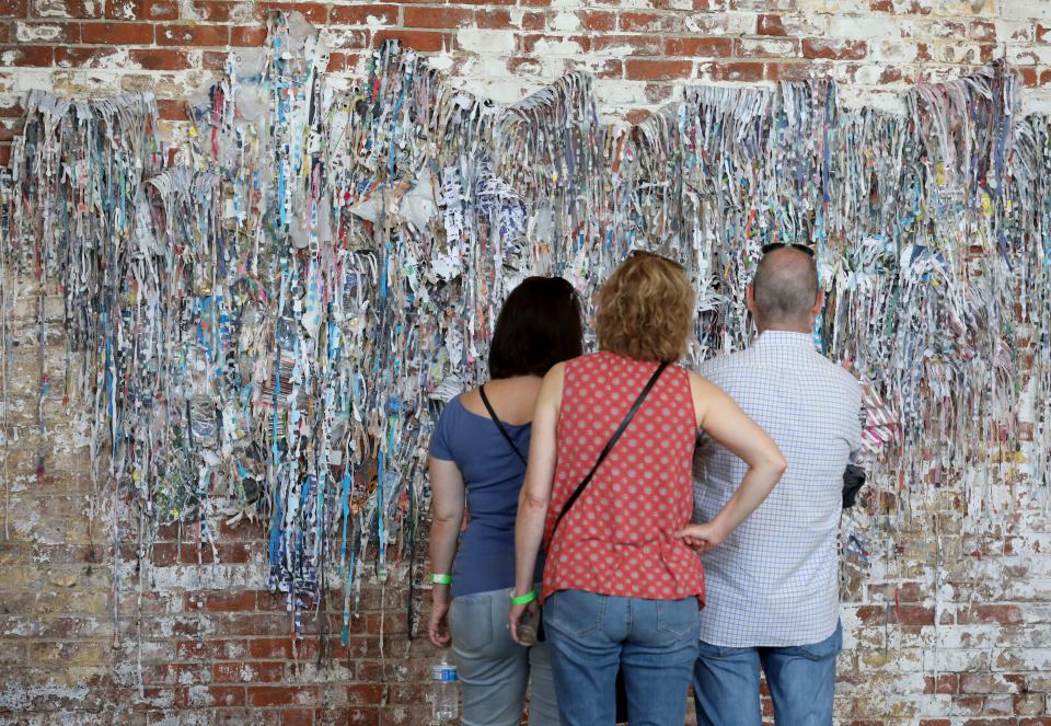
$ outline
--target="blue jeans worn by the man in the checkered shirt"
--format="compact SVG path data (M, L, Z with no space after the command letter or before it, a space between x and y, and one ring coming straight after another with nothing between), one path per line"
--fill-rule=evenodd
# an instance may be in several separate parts
M843 629L810 645L724 648L701 642L693 669L697 726L760 726L759 667L779 726L829 726L835 693L835 657Z

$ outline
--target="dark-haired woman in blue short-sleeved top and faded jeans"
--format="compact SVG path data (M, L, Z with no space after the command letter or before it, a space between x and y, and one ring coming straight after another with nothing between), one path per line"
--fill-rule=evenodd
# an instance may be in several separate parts
M523 647L507 627L515 586L515 519L533 403L544 374L581 354L580 301L561 277L530 277L508 296L489 346L489 380L450 401L430 440L435 586L428 635L452 644L464 726L558 724L547 645ZM470 512L461 533L464 499ZM459 546L458 546L459 540ZM544 569L536 563L535 581Z

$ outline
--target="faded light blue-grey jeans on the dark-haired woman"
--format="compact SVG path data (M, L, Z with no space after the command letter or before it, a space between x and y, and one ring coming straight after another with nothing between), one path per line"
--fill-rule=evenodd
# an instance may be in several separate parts
M510 589L461 595L449 607L452 656L463 685L463 726L518 726L529 685L530 726L557 726L546 643L526 648L507 625Z

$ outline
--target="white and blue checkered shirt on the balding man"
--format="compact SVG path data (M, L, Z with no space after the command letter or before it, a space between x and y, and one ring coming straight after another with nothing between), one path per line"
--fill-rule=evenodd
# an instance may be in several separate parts
M861 448L862 389L807 333L767 331L702 376L726 391L788 460L771 495L704 555L701 639L723 647L790 646L832 635L839 619L843 471ZM694 458L694 519L737 491L744 462L703 437Z

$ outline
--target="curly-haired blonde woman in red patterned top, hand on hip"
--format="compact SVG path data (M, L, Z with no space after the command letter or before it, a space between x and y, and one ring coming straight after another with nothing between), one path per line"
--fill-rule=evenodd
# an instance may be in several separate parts
M563 724L613 724L620 669L632 726L681 726L704 604L695 551L723 542L786 463L726 393L669 365L559 521L660 364L685 355L694 326L685 270L648 253L630 255L596 302L599 352L553 367L536 399L508 620L517 639L522 613L543 602ZM715 518L691 525L698 427L749 469ZM541 543L543 591L533 599Z

